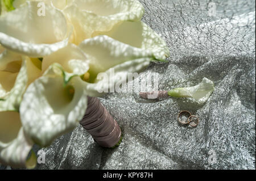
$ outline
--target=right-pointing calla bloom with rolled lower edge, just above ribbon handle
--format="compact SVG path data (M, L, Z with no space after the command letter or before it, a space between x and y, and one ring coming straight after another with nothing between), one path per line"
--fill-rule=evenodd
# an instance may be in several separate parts
M102 89L113 89L115 83L127 80L128 73L139 73L154 60L151 50L131 47L106 35L84 40L79 47L90 60L89 80L81 82L90 96L101 96ZM100 80L102 73L107 79Z

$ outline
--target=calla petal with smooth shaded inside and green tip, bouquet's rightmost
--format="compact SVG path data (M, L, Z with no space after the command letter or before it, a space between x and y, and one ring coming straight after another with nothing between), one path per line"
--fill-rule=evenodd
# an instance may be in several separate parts
M165 60L170 56L164 40L143 22L123 22L114 26L111 31L100 32L98 35L108 35L133 47L151 50L158 60Z

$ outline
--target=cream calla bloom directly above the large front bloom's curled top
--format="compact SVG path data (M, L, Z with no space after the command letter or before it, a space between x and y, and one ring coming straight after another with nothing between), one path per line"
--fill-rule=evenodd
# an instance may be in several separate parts
M42 71L48 69L49 65L59 63L64 71L81 75L89 69L89 62L85 53L76 45L68 44L67 47L44 57L42 62Z

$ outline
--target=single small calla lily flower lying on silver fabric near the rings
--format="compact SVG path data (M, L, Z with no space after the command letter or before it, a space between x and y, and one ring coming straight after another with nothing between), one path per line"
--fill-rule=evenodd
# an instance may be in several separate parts
M193 87L179 87L168 91L168 95L173 97L185 97L192 98L199 104L205 103L210 94L214 91L214 83L208 78L203 78L203 81L199 85Z

